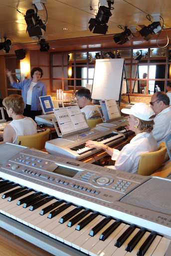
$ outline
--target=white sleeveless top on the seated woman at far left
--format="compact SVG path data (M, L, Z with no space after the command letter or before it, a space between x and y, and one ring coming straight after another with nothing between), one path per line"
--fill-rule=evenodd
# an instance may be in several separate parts
M13 144L18 143L18 141L17 141L18 135L32 135L32 134L37 133L37 125L31 117L25 117L25 118L18 119L18 120L12 120L7 125L11 125L16 132L16 137L12 141Z

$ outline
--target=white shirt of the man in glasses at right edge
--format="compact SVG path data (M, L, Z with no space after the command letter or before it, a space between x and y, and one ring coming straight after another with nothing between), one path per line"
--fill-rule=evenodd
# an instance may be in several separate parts
M165 141L165 138L171 133L171 106L165 108L162 112L154 118L155 125L153 126L153 136L158 142ZM169 141L169 148L171 149L171 141ZM165 155L164 162L169 159L168 152Z

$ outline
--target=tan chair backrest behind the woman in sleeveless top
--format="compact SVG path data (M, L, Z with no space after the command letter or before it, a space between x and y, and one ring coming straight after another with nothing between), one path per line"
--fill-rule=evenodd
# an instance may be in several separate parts
M49 132L50 129L47 129L33 135L18 136L18 143L20 143L22 146L42 149L45 146L45 142L49 140Z

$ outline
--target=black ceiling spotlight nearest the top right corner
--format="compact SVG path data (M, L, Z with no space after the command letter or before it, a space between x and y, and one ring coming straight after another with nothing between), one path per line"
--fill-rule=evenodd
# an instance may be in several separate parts
M148 41L153 37L153 33L158 33L162 29L160 21L153 22L148 26L144 26L139 32L142 36L145 36L144 39Z

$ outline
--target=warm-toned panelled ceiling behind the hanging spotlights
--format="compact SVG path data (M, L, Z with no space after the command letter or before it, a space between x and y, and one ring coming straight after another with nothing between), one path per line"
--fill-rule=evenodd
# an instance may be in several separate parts
M88 26L90 18L94 18L98 10L99 0L47 0L45 7L48 13L46 31L47 40L94 36ZM108 22L107 34L120 33L123 30L118 25L136 26L149 25L147 13L161 13L166 28L171 27L171 2L170 0L115 0L112 5L112 16ZM0 0L0 36L11 38L12 44L35 42L26 33L25 12L31 9L32 0ZM17 9L21 12L19 13ZM22 14L23 13L23 14ZM46 20L45 9L39 10L38 15ZM153 18L152 18L153 21ZM68 28L63 30L63 28Z

